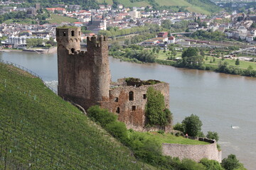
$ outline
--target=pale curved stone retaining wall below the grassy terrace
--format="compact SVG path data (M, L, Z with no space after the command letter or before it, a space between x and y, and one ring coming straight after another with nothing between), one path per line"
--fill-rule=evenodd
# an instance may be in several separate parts
M181 144L162 144L163 154L179 159L193 159L200 162L201 159L213 159L221 162L221 151L218 151L216 142L208 145L181 145Z

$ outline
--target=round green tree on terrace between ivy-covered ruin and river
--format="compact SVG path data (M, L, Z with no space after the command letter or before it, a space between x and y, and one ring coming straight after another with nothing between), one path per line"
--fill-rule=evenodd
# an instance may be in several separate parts
M182 121L185 129L185 133L189 136L196 137L201 132L201 126L203 123L197 115L191 114Z

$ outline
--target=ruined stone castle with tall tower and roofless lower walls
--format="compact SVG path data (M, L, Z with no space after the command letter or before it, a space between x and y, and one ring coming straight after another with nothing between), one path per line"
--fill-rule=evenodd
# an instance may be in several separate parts
M58 95L89 108L100 105L118 115L127 128L143 131L149 86L164 94L169 108L169 84L156 81L111 82L107 38L87 38L87 51L80 50L80 28L56 28L58 42Z

